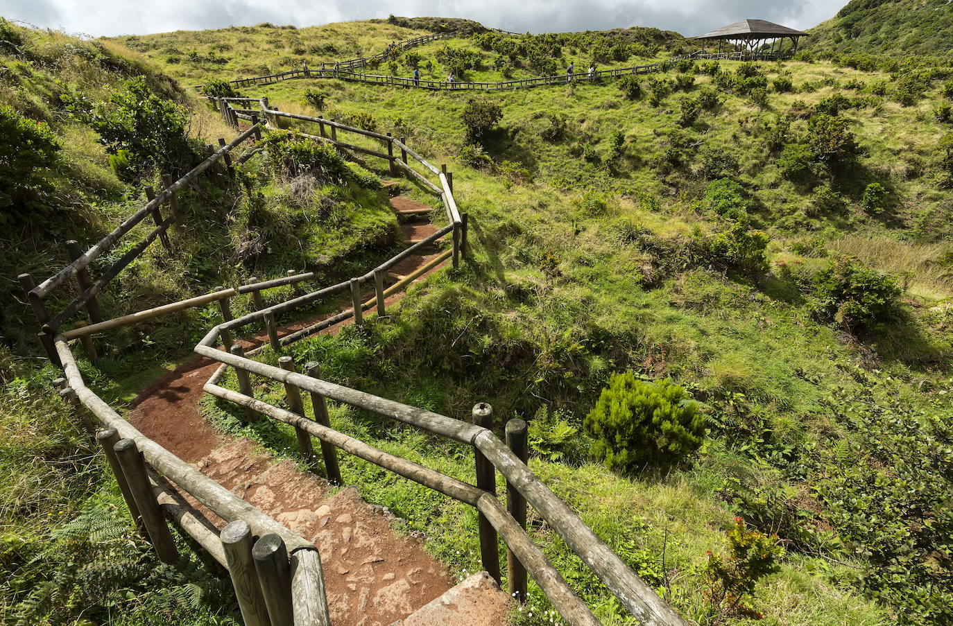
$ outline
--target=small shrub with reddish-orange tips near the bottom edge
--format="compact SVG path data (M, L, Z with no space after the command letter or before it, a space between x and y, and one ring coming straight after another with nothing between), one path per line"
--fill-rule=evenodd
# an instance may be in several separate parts
M704 578L708 585L705 596L712 608L721 617L751 617L761 615L748 606L748 598L754 595L755 586L764 576L774 574L781 568L778 559L784 549L777 536L767 536L757 530L747 530L744 520L735 517L735 525L725 534L728 538L728 554L708 553Z

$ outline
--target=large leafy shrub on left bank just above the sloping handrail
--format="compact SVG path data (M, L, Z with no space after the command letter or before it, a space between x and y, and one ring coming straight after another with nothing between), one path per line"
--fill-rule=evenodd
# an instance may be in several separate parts
M186 111L152 92L138 76L115 91L110 105L100 107L90 124L110 154L129 152L129 171L143 176L152 168L162 172L188 170L193 152L186 136Z

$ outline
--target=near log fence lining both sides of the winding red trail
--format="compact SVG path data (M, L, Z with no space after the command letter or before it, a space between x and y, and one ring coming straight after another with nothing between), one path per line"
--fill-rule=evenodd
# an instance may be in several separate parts
M497 557L497 540L502 538L507 547L509 590L520 599L526 596L526 576L533 576L539 588L546 594L559 614L573 626L596 626L599 622L582 603L558 571L542 554L525 532L527 506L533 506L537 514L552 527L566 544L588 565L618 600L639 618L651 626L687 626L686 622L646 585L609 547L586 526L572 510L562 502L526 465L526 424L513 419L506 425L506 442L501 441L491 430L493 410L485 403L473 409L473 423L436 414L389 400L373 394L321 379L317 363L304 365L303 372L289 356L279 359L281 367L273 367L250 358L262 350L255 349L245 354L234 341L242 329L253 331L263 324L270 338L270 346L282 353L289 343L317 333L335 323L353 318L355 324L364 323L364 313L376 310L385 313L385 297L406 287L412 280L433 269L430 263L416 273L402 278L398 283L384 289L384 273L420 247L436 239L450 235L452 249L436 262L452 257L454 267L460 258L467 256L468 219L460 212L453 189L453 174L445 167L436 168L400 139L390 135L364 131L322 118L296 115L272 109L266 98L232 98L214 100L223 118L238 127L239 119L251 122L251 128L241 131L226 143L219 140L220 147L191 172L176 181L167 181L167 186L132 217L113 232L80 252L75 242L69 249L73 258L70 265L39 285L34 285L29 274L21 274L20 280L27 293L33 312L38 317L43 346L53 362L63 368L66 378L59 380L60 394L71 404L75 419L89 423L87 412L101 423L97 439L102 443L122 494L136 523L144 528L152 540L159 557L167 563L176 560L176 547L169 532L166 518L176 523L183 532L191 535L210 555L230 573L238 603L246 624L290 623L295 626L328 626L329 611L324 591L321 559L314 544L294 534L268 515L253 508L248 502L234 495L212 478L203 475L190 464L165 450L157 443L138 432L111 406L86 386L77 367L71 342L78 340L88 356L95 360L93 335L114 329L133 326L144 320L189 308L204 307L217 303L222 322L217 324L195 346L194 352L218 361L221 365L205 385L205 391L216 397L245 407L247 418L259 415L294 426L298 444L306 458L322 456L328 478L340 482L337 471L336 450L375 463L396 475L424 485L436 492L465 502L479 512L479 543L483 568L497 582L501 579ZM236 110L233 104L243 108ZM256 105L257 109L253 109ZM259 122L259 114L263 121ZM182 222L176 204L176 192L203 172L234 176L234 169L255 151L260 150L262 128L275 127L276 120L285 117L317 126L316 139L334 145L342 151L360 151L388 161L391 172L403 172L433 192L443 204L448 226L396 254L376 268L336 285L320 287L293 296L291 299L265 307L261 293L284 285L300 287L316 278L315 273L297 273L274 280L253 282L234 288L218 288L213 293L198 295L186 300L171 302L139 313L113 319L102 319L96 304L96 295L137 255L159 239L170 245L165 236L169 228ZM338 139L339 134L350 133L360 139L364 146ZM369 142L377 142L375 148ZM251 144L251 145L249 145ZM210 150L212 150L210 148ZM233 155L244 150L234 159ZM399 154L398 154L399 151ZM170 210L163 216L162 207ZM112 250L124 235L147 217L155 227L144 239L133 245L110 268L98 277L91 275L91 262ZM75 280L81 293L57 313L47 311L45 300L68 281ZM362 301L361 286L374 285L375 296ZM300 290L303 291L303 290ZM275 317L289 313L338 293L350 293L352 308L309 328L278 338ZM250 309L242 317L233 318L230 301L247 295ZM88 313L93 323L75 320L81 310ZM71 324L72 323L72 324ZM67 328L68 325L72 328ZM221 344L222 350L215 347ZM238 391L221 386L224 374L233 368L238 380ZM252 376L271 381L280 381L286 390L290 410L256 399L253 393ZM301 393L311 394L314 418L304 414ZM407 459L377 450L372 446L331 428L327 414L326 399L331 398L361 409L385 415L398 422L412 424L429 433L448 437L472 446L476 464L476 485L462 482L452 476L440 474ZM313 448L312 438L320 442L320 453ZM495 473L506 478L507 505L497 500ZM229 522L218 533L201 513L189 506L179 495L185 492L208 507L214 514ZM257 537L257 539L255 539ZM253 551L254 546L254 551ZM255 572L277 573L274 576L258 576ZM284 582L281 582L284 581ZM291 617L289 617L291 616Z

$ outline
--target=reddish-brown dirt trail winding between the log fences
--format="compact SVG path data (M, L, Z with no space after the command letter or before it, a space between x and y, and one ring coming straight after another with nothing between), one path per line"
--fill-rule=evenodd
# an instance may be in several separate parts
M395 209L413 208L413 201L402 197L394 204ZM411 273L430 258L412 256L401 263L400 272ZM399 299L397 293L388 298L388 304ZM299 320L279 329L279 334L293 333L333 314ZM350 320L323 333L336 333L345 323ZM249 348L264 339L259 335L242 343ZM388 626L453 586L446 567L423 550L419 538L395 535L393 517L364 502L354 488L331 495L331 485L323 478L298 472L293 462L255 449L248 439L216 431L199 413L198 401L217 367L208 358L188 359L139 394L129 419L172 454L314 541L321 553L335 626Z

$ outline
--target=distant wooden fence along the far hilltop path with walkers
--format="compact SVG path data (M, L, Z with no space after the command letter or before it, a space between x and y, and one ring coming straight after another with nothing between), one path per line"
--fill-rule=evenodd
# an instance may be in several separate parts
M516 33L508 33L516 34ZM265 76L255 76L253 78L237 78L229 81L231 85L237 88L253 87L259 85L274 85L274 83L283 80L294 80L299 78L338 78L357 83L367 83L370 85L396 85L399 87L410 87L414 89L430 91L508 91L517 89L529 89L532 87L541 87L543 85L564 85L570 78L566 74L557 74L554 76L537 76L536 78L518 78L515 80L504 80L498 82L469 82L469 81L441 81L441 80L416 80L404 76L389 76L384 74L369 74L361 71L355 71L373 65L374 61L383 61L392 56L395 51L407 50L419 46L420 44L434 41L436 39L448 39L456 36L453 32L441 32L407 41L401 41L392 47L369 57L359 57L337 63L322 63L320 66L309 68L305 65L301 70L279 71ZM578 72L573 78L573 82L593 82L603 79L618 78L628 74L647 74L656 71L666 71L672 63L682 59L720 59L731 61L777 61L788 58L789 52L781 51L761 51L744 50L734 52L703 52L701 50L691 54L680 54L659 63L649 63L645 65L632 66L628 68L617 68L615 70L599 70L591 74L589 72Z

